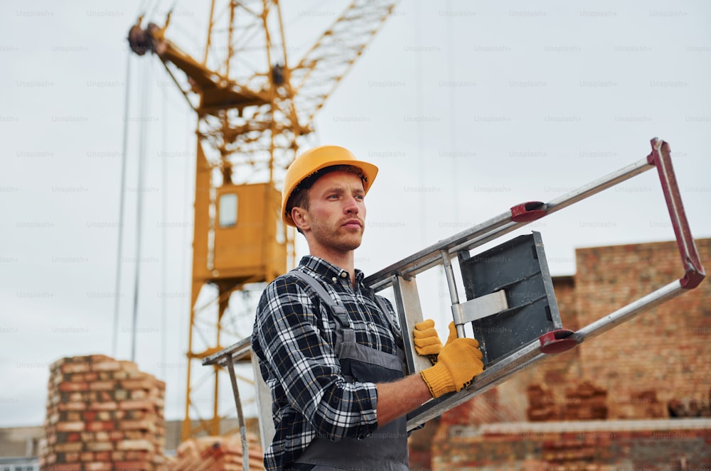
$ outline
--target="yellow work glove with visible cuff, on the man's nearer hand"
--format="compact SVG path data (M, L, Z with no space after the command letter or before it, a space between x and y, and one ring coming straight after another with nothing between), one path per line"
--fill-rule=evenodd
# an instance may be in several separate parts
M461 391L476 375L481 374L479 342L476 339L456 338L454 323L449 324L449 339L439 352L437 364L420 372L432 397Z

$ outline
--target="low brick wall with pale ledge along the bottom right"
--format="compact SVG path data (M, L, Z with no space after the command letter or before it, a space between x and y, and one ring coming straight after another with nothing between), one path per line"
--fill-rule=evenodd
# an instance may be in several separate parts
M439 426L434 471L711 469L711 421ZM700 426L702 425L702 426Z

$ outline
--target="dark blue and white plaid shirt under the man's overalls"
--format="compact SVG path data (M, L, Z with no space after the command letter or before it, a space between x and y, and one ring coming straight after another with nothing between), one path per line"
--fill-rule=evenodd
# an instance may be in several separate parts
M386 300L390 321L380 312L373 290L355 270L348 272L315 256L296 268L314 276L348 311L355 341L395 354L402 348L395 312ZM264 455L267 470L294 462L317 436L331 440L364 438L378 427L375 384L348 382L333 353L336 321L319 296L288 274L269 283L257 308L252 348L262 378L272 393L276 434Z

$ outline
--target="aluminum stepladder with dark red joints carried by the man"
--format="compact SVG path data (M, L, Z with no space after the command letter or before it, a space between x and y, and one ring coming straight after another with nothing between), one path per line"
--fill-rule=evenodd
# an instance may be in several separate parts
M445 394L438 399L432 399L417 408L413 413L410 413L407 421L409 430L417 428L420 424L432 418L436 418L445 411L501 384L520 369L541 362L552 354L570 350L585 340L597 337L597 335L636 317L646 310L655 308L675 296L679 296L685 293L685 291L695 288L701 283L705 277L705 271L700 263L700 257L684 212L672 166L670 147L665 141L654 138L651 139L651 148L651 153L641 161L632 163L629 166L621 168L598 180L594 180L581 188L572 190L570 193L566 193L549 202L529 201L515 205L501 215L437 242L365 278L365 284L373 288L376 292L383 291L386 288L392 288L392 292L395 296L395 310L397 311L405 339L407 367L411 374L431 366L427 358L417 355L412 343L412 335L410 335L415 323L423 319L416 282L417 274L421 274L436 266L444 267L444 274L447 278L447 286L451 300L452 319L456 325L459 337L466 336L464 327L467 324L476 325L477 323L494 322L494 325L496 325L497 316L501 319L502 313L507 313L512 310L523 310L525 306L535 305L535 303L540 303L541 301L547 303L546 305L548 306L545 313L539 315L540 319L542 319L540 325L542 325L545 331L536 337L531 337L531 332L524 332L524 334L530 338L526 338L524 335L518 338L519 345L515 345L515 343L508 345L508 352L502 354L502 352L499 351L488 357L489 350L496 350L496 345L494 344L498 343L499 340L503 340L504 337L499 336L497 338L494 336L489 339L485 342L489 344L489 347L483 349L485 350L484 371L477 376L469 386L466 386L466 388L461 391ZM534 232L532 236L533 242L522 241L521 244L507 242L498 247L516 250L519 246L523 247L525 244L533 244L533 259L538 259L538 264L540 264L540 273L536 276L538 276L543 286L540 293L533 293L532 296L535 299L524 299L523 305L525 306L523 308L521 305L512 307L510 305L512 302L511 294L513 293L513 286L516 283L504 283L506 285L504 288L493 291L492 293L485 293L482 296L476 296L477 293L469 292L471 291L469 289L471 288L471 283L469 283L470 286L466 286L468 281L465 280L465 290L468 291L466 294L470 299L464 302L460 301L452 266L453 259L456 258L459 261L460 267L465 265L469 266L470 264L476 266L476 257L472 259L471 250L498 239L498 237L508 234L515 229L523 227L525 224L539 220L575 202L584 200L587 197L600 193L602 190L606 190L607 188L629 180L652 168L657 169L661 190L665 197L671 225L679 249L683 276L648 293L646 296L631 301L631 303L580 328L576 332L565 330L562 328L562 325L560 325L560 317L558 316L557 306L555 305L555 295L552 293L550 274L547 273L545 253L542 252L542 242L540 242L540 237L537 237ZM492 250L496 252L498 247ZM537 251L538 253L536 253ZM472 263L472 260L474 263ZM503 257L503 261L506 262L506 257ZM498 270L496 266L493 267L493 269L495 271ZM465 271L462 271L461 276L465 276L465 274ZM528 280L528 278L526 278L526 280ZM469 282L471 282L471 279ZM513 302L517 302L517 300L513 299ZM476 332L476 327L474 327L474 330ZM476 335L476 337L479 339L479 335ZM481 343L481 339L479 340ZM240 403L240 393L237 389L234 364L235 362L250 359L250 357L253 356L251 355L250 339L247 338L203 359L203 365L220 364L223 367L227 367L230 372L245 457L247 456L246 428L242 416L242 405ZM255 367L257 404L260 408L261 415L260 433L262 435L262 443L266 446L266 444L271 442L272 436L274 435L274 426L271 420L271 399L269 398L269 391L260 377L256 361L253 358L252 364ZM245 469L247 469L247 466L248 464L245 462Z

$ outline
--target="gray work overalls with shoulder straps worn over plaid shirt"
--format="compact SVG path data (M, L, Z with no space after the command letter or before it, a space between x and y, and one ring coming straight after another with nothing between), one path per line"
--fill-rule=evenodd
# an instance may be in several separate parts
M343 376L348 381L382 383L405 377L405 354L402 350L398 349L397 354L389 354L356 343L346 309L333 301L321 283L301 271L292 270L289 274L297 276L313 288L331 310L337 326L335 352ZM375 296L375 301L390 323L383 300ZM334 442L328 438L315 438L296 462L315 465L313 471L409 470L407 418L397 418L363 440L346 437Z

